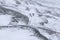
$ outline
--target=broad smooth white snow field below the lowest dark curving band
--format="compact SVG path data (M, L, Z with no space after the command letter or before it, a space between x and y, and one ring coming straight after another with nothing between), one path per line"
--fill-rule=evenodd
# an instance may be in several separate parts
M16 28L6 28L0 30L0 40L39 40L28 30L16 29Z

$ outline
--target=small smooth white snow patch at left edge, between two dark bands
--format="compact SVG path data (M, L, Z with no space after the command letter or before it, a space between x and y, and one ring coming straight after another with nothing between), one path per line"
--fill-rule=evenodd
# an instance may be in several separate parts
M0 15L0 26L8 25L11 21L11 15Z

